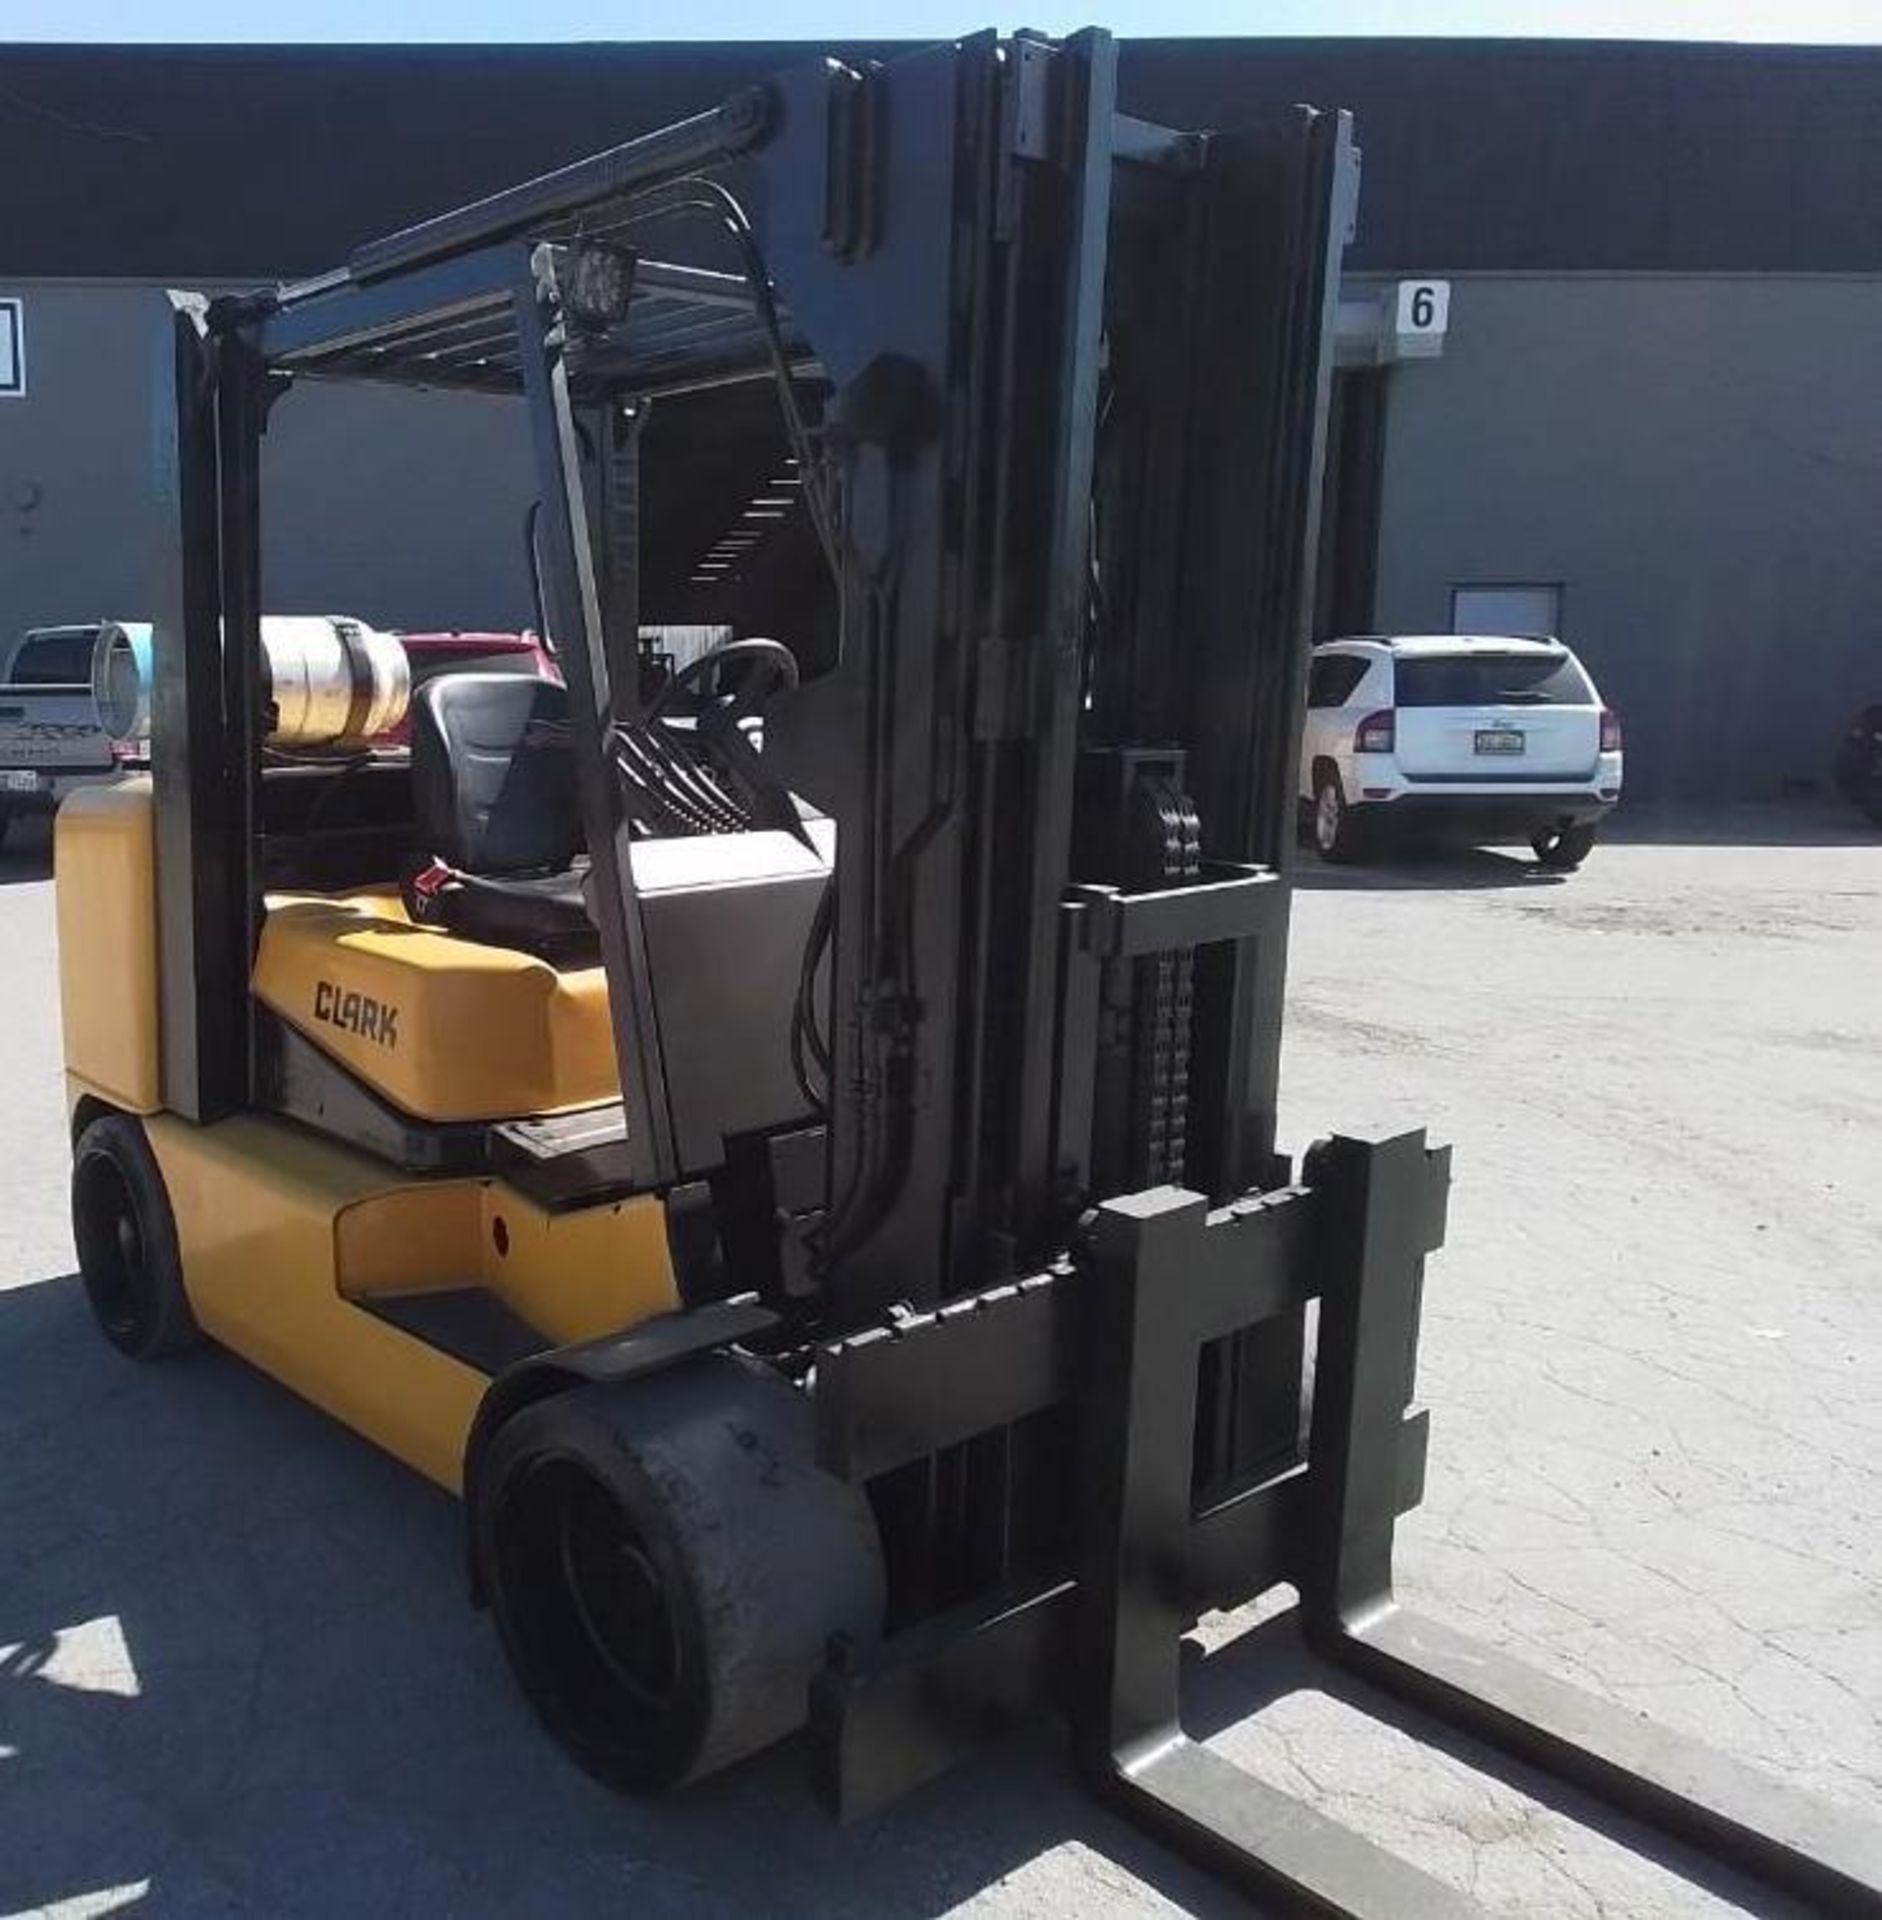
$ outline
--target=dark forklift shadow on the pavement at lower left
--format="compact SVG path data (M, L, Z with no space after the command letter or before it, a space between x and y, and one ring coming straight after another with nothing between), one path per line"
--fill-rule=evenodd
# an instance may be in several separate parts
M0 1290L0 1912L928 1920L1133 1880L1246 1912L1089 1801L1049 1730L855 1828L793 1747L609 1793L467 1605L447 1498L225 1354L127 1365L77 1277Z

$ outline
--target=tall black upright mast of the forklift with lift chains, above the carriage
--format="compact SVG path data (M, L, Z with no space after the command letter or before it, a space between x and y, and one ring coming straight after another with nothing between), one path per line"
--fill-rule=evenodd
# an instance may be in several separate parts
M822 204L784 148L766 180L820 221L787 298L843 628L768 751L839 822L845 1329L1037 1267L1093 1198L1269 1171L1356 156L1340 115L1133 123L1100 36L822 86Z

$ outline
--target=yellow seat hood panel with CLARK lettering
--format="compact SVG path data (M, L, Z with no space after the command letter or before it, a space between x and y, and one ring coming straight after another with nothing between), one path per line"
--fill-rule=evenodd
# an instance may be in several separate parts
M273 897L253 985L419 1119L559 1114L620 1096L601 968L563 973L415 927L390 889Z

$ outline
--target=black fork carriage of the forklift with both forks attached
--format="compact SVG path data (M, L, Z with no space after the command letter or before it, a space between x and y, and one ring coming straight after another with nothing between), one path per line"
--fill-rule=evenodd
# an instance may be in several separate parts
M1204 1609L1289 1582L1321 1655L1436 1720L1826 1912L1882 1914L1872 1822L1394 1599L1394 1528L1423 1492L1427 1419L1410 1402L1448 1183L1448 1152L1421 1133L1340 1137L1308 1156L1300 1185L1216 1210L1175 1187L1114 1200L1077 1265L826 1350L818 1411L833 1471L868 1476L1060 1392L1081 1400L1085 1463L1070 1578L928 1620L862 1667L833 1661L812 1724L837 1812L880 1805L1056 1705L1102 1799L1258 1899L1371 1920L1477 1912L1185 1736L1181 1636ZM1308 1298L1319 1327L1306 1446L1198 1505L1204 1346Z

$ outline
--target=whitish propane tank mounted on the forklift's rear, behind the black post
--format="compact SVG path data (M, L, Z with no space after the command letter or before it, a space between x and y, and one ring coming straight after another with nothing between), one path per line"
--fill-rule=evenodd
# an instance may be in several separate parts
M106 620L92 651L98 724L115 741L150 737L152 630ZM261 620L261 699L271 747L357 751L405 718L411 664L392 634L340 614Z

